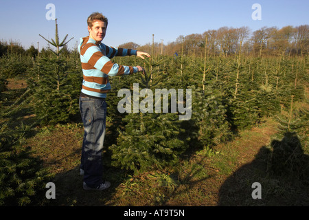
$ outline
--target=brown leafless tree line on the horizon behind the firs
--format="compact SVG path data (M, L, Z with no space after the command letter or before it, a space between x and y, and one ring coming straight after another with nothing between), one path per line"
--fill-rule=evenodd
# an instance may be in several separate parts
M240 43L242 53L251 56L281 56L308 54L309 25L263 27L251 32L249 27L207 30L203 34L180 35L176 41L163 45L161 43L148 43L138 45L129 42L119 47L133 47L133 49L153 52L153 54L174 55L175 53L193 56L204 56L205 46L209 56L229 56L238 54Z

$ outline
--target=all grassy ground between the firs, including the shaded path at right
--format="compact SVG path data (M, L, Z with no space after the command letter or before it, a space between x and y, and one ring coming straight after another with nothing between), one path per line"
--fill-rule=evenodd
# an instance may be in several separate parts
M24 88L11 84L5 96L16 98L14 94L20 89ZM22 112L15 115L14 125L31 122L29 107ZM107 122L107 131L112 126ZM230 142L192 151L178 166L139 175L111 166L108 146L113 144L113 134L107 132L104 177L112 185L102 192L82 189L81 122L37 126L24 144L54 174L56 199L43 197L45 206L308 206L308 178L270 171L270 144L277 132L277 122L265 118ZM309 162L309 149L304 148L304 152L304 162ZM262 199L251 197L254 182L262 185Z

